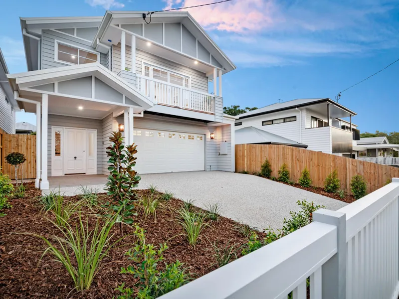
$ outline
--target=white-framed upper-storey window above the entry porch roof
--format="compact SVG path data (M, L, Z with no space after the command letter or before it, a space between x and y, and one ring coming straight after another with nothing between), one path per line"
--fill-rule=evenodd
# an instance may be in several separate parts
M85 64L97 62L99 55L71 45L56 41L56 59L68 64Z

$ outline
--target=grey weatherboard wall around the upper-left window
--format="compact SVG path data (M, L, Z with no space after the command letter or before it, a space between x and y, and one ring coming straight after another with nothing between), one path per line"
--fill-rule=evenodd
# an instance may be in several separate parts
M66 66L68 64L55 61L55 49L54 49L54 41L58 40L60 42L64 42L70 45L75 45L84 50L95 51L91 47L90 41L85 41L80 38L76 38L74 36L70 36L67 34L63 34L62 32L56 32L52 30L43 30L42 31L42 42L41 42L41 68L48 69L53 67L61 67ZM100 53L100 63L108 67L107 63L107 54Z

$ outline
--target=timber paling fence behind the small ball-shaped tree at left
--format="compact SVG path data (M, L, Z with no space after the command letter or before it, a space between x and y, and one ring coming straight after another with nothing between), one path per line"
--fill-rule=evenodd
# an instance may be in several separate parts
M25 155L26 161L23 163L23 178L36 177L36 136L6 134L0 129L0 166L3 174L8 174L11 179L15 177L14 166L5 161L5 156L10 152L20 152ZM21 169L21 167L20 167ZM18 169L18 179L20 179L20 169Z

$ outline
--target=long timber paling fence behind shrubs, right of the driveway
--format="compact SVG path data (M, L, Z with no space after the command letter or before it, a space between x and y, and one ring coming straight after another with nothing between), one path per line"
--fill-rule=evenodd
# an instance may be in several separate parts
M399 177L398 167L282 145L236 145L235 172L259 172L266 158L273 169L272 176L277 176L281 165L286 163L294 182L298 182L302 170L308 167L315 187L324 187L324 180L336 169L341 189L348 193L351 193L351 179L356 174L366 179L368 193L383 187L393 177Z

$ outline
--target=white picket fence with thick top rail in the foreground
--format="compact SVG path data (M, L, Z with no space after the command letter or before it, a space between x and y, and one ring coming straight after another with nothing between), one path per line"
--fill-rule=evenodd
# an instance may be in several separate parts
M399 178L162 299L397 299Z

